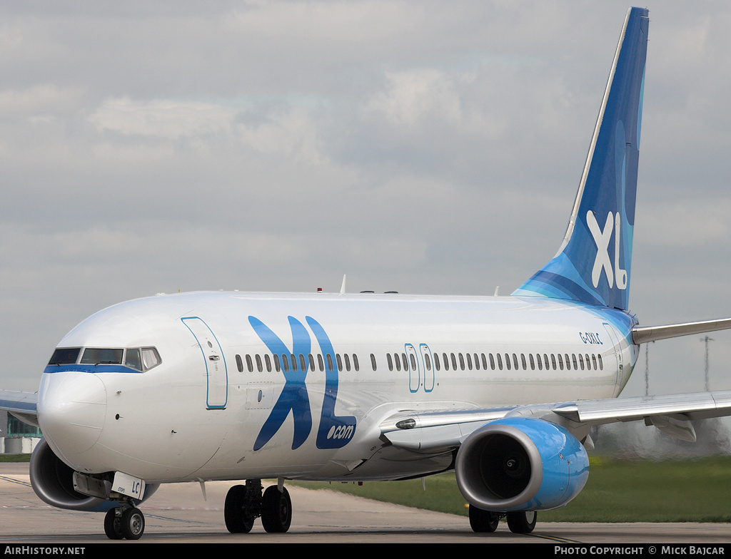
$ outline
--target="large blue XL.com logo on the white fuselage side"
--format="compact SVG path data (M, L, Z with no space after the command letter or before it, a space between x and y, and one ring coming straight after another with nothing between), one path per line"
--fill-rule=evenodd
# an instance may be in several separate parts
M311 352L311 338L305 328L295 317L287 317L289 328L292 330L292 350L287 344L265 323L257 317L250 316L249 324L260 337L273 355L279 355L283 360L292 355L309 355ZM341 448L348 444L355 434L355 417L338 417L335 414L335 404L338 398L338 364L333 350L333 344L325 333L325 329L312 317L305 317L312 333L317 339L320 350L325 356L325 394L322 401L322 412L317 430L316 446L319 449ZM304 370L298 370L304 369ZM282 367L285 383L274 404L267 420L254 442L254 450L259 450L279 431L287 419L289 412L295 421L295 432L292 439L292 450L299 448L307 439L312 429L312 414L310 401L305 384L308 367L298 367L296 358L292 358L292 367Z

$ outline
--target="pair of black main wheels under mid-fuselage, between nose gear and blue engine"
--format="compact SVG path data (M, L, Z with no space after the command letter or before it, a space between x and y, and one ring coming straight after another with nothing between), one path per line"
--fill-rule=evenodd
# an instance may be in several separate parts
M230 488L224 504L224 520L231 533L247 533L262 517L265 531L283 533L292 524L292 500L282 482L270 485L262 494L261 479L247 479L246 485Z

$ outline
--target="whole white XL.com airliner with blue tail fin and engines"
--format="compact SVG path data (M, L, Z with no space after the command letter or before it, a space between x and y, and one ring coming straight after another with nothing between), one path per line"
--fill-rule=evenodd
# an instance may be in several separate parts
M58 344L37 400L0 393L44 434L37 495L137 539L159 484L241 479L228 530L284 532L287 479L454 470L474 531L506 517L529 532L586 483L592 425L693 440L691 420L731 415L731 391L617 398L641 343L731 328L628 310L647 32L630 9L564 241L512 296L178 293L102 310Z

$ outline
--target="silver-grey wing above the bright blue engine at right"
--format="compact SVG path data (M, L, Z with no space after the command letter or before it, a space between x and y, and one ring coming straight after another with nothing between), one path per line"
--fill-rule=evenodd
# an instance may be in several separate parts
M491 420L527 416L562 425L569 431L644 420L645 425L655 425L670 436L694 442L692 420L727 415L731 415L731 390L450 412L401 412L382 423L381 436L395 447L413 452L439 452L459 447L472 431Z

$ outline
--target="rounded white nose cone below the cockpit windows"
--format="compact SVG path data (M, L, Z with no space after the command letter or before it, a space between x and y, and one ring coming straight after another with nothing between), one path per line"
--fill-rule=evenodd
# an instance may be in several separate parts
M104 383L91 373L44 374L37 410L43 436L61 454L89 450L104 426L107 412Z

